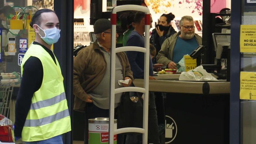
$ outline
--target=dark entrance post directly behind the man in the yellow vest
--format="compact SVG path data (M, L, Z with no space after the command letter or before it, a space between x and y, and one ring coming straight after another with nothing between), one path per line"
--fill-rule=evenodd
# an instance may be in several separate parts
M74 47L74 1L54 1L54 11L59 18L61 27L61 38L54 44L61 72L64 77L64 87L67 105L71 117L71 128L73 128L73 47ZM63 127L65 127L63 125ZM64 144L72 144L72 131L63 135Z

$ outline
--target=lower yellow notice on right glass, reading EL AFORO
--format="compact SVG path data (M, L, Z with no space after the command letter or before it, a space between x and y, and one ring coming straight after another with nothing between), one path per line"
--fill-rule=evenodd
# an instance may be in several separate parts
M240 99L256 100L256 72L240 72Z

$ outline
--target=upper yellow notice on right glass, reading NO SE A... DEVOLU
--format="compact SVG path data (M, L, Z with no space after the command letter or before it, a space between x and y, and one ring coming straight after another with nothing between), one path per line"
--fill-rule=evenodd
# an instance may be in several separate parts
M241 25L240 52L256 52L256 25Z

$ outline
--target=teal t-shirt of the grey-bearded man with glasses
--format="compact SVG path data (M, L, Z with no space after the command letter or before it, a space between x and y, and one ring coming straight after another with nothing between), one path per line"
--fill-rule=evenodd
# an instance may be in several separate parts
M179 63L184 55L191 54L197 47L198 43L195 37L190 40L183 40L178 36L173 50L173 62Z

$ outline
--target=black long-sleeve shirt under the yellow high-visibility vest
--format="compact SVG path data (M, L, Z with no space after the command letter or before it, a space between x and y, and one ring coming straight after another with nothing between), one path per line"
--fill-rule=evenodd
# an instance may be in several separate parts
M42 46L51 56L56 64L54 54L44 45L33 42L34 45ZM31 47L33 49L33 47ZM21 137L22 129L31 106L33 94L39 90L43 80L43 66L39 58L31 56L24 63L22 81L15 105L15 129L16 137Z

